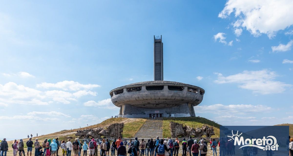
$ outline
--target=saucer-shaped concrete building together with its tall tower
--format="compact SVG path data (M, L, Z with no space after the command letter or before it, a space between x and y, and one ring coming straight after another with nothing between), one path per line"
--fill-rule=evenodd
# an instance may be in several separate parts
M120 117L148 118L195 116L205 90L195 85L163 80L162 36L154 37L154 81L132 83L110 91Z

